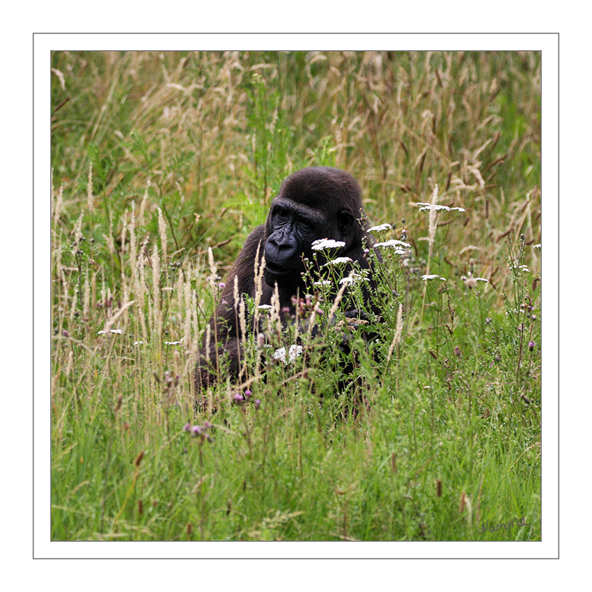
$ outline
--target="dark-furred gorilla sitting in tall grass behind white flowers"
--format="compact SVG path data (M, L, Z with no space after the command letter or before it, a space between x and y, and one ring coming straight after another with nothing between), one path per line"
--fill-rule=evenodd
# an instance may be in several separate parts
M282 183L279 194L272 201L267 221L255 228L244 242L221 293L221 302L210 319L210 368L203 355L204 336L202 356L195 374L196 392L200 386L204 388L215 382L217 357L225 351L230 359L231 374L235 377L239 374L242 329L235 306L235 278L239 297L255 297L255 270L265 256L265 283L260 304L271 304L277 285L282 318L288 320L295 314L294 297L304 296L304 260L313 260L315 240L326 238L345 244L332 249L331 258L348 257L357 261L361 269L370 269L365 250L371 247L373 239L366 232L361 216L361 189L355 178L345 171L311 167L293 173ZM326 261L322 251L316 251L316 258L321 264ZM346 267L345 275L347 273ZM353 310L347 311L345 316L364 318L365 315L363 311ZM253 327L247 324L247 332L252 330Z

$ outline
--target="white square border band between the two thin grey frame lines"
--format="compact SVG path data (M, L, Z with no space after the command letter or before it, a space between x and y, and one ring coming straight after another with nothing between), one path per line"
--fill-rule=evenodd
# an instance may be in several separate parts
M51 542L49 266L49 53L52 50L475 50L543 52L543 497L542 542L364 543L132 543ZM36 558L410 559L556 558L559 556L559 36L556 33L38 33L33 40L34 84L34 523ZM187 581L187 580L185 580ZM172 583L172 582L171 582ZM184 585L175 582L173 585Z

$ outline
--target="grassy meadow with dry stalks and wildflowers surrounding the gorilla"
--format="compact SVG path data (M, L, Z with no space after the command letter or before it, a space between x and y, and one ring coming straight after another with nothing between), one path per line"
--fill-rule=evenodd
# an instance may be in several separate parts
M304 166L362 187L376 338L196 393ZM540 540L540 174L535 52L54 53L52 540Z

